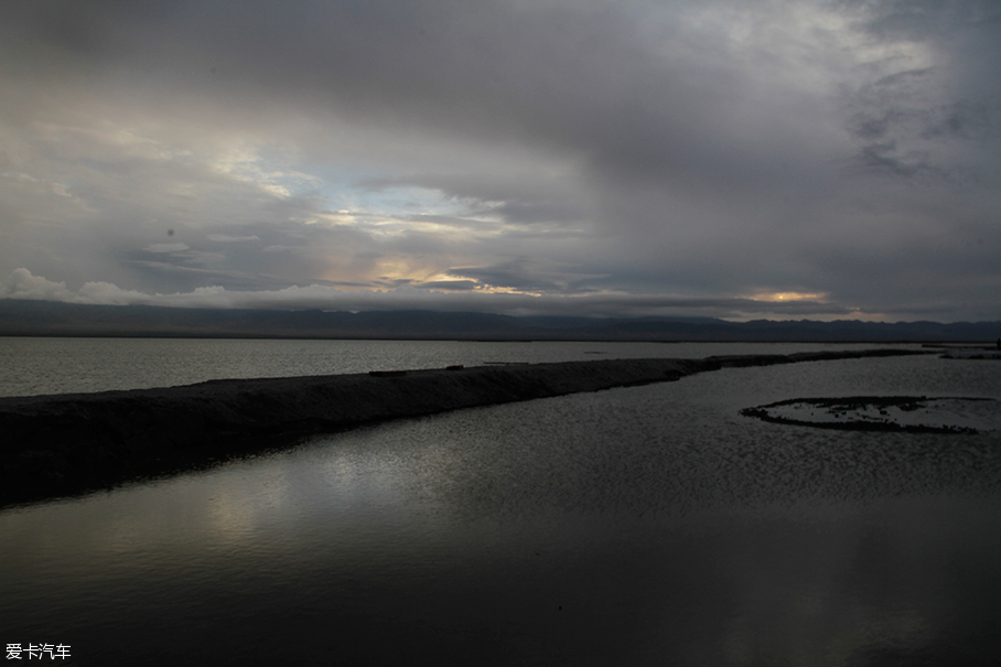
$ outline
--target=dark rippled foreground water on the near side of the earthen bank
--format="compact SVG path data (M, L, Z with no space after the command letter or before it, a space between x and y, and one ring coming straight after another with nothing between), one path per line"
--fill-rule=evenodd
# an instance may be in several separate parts
M80 665L995 664L1001 439L739 410L998 398L999 369L724 369L7 510L0 642Z

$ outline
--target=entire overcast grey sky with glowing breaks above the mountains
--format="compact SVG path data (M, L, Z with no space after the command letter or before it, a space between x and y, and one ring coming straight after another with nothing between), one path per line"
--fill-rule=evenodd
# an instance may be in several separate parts
M1001 320L995 0L4 0L0 298Z

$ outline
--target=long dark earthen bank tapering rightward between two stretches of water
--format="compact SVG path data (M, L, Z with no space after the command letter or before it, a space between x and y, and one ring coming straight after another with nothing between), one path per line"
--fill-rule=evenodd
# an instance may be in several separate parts
M365 422L670 381L724 367L907 354L922 353L600 359L0 398L0 506L198 469Z

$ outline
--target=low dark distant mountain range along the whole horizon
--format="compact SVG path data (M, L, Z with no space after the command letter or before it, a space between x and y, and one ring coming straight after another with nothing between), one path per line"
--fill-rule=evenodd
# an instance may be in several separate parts
M978 342L1001 322L561 318L438 311L280 311L84 305L0 299L0 335L275 338L431 338L489 341L872 341Z

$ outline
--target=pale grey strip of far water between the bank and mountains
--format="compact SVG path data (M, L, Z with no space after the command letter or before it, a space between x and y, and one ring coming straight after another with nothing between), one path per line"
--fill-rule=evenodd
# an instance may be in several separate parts
M453 364L482 366L488 363L538 364L601 358L701 358L714 354L789 354L867 347L874 346L0 336L0 396L148 389L211 379L443 368Z

